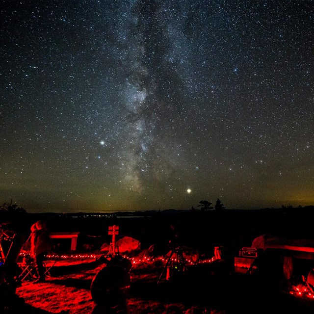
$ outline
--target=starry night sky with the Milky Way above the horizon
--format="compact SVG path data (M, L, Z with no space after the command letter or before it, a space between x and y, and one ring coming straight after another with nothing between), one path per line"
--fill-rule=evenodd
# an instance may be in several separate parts
M314 205L314 1L2 0L0 26L1 204Z

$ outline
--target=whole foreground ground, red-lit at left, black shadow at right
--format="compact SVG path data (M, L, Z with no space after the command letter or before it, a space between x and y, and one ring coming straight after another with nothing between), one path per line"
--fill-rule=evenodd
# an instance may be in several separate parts
M306 287L278 293L271 284L260 286L243 275L230 280L223 263L216 262L191 265L178 282L172 282L165 280L162 257L132 261L129 314L314 313L313 296ZM60 258L47 282L25 281L17 294L24 299L27 313L106 314L95 308L90 291L103 267L105 263L95 258Z

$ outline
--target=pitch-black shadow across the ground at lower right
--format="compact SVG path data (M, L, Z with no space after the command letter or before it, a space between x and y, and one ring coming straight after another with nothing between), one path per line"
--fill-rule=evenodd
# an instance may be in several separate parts
M214 270L214 271L213 271ZM185 306L203 306L228 314L313 314L314 300L299 299L263 277L191 267L172 280L131 283L130 297ZM217 312L219 313L219 312Z

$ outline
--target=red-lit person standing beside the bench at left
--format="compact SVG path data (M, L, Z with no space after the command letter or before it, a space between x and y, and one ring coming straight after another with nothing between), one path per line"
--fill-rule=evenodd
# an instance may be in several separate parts
M46 222L38 220L31 228L30 235L30 254L36 264L37 280L36 282L45 282L45 255L51 251L51 239Z

